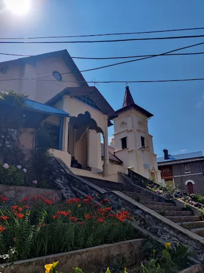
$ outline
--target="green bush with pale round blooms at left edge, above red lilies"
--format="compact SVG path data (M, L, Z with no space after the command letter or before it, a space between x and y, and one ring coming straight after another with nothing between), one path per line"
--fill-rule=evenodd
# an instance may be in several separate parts
M0 163L0 184L23 185L24 173L15 166L10 165L5 169Z

